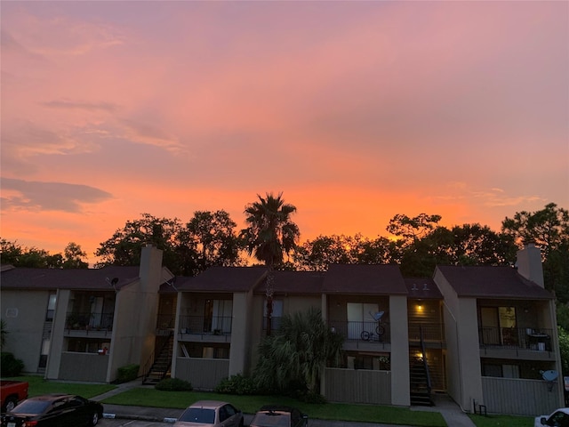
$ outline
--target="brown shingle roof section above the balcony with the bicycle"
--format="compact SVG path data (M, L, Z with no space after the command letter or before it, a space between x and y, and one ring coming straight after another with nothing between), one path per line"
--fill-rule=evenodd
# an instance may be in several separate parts
M325 294L406 295L397 265L332 264L324 279Z

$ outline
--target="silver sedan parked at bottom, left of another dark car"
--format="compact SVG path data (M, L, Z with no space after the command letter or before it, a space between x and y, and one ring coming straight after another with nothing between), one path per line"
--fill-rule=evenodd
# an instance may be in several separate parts
M243 427L243 413L228 402L199 400L190 405L174 427Z

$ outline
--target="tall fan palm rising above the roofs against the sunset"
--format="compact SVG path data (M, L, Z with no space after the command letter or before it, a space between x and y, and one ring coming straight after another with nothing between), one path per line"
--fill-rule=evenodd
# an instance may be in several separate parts
M273 284L275 266L283 262L284 254L289 254L297 244L301 235L298 226L291 221L296 207L284 203L283 193L274 196L266 193L266 197L245 206L245 222L247 228L241 230L249 254L267 266L267 335L271 333L273 313Z

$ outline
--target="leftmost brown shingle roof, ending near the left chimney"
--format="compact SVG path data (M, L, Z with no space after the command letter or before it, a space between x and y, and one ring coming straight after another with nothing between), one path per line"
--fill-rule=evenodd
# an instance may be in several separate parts
M2 271L0 286L3 289L76 289L108 290L109 283L118 278L116 289L132 283L139 277L138 266L108 266L102 269L31 269L15 268ZM107 280L108 279L108 280Z

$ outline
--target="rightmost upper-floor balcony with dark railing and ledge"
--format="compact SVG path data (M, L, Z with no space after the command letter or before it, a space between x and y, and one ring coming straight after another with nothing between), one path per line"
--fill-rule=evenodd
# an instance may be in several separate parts
M551 359L552 329L530 327L479 327L481 356Z

